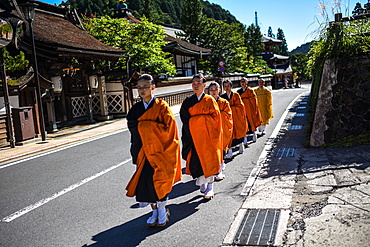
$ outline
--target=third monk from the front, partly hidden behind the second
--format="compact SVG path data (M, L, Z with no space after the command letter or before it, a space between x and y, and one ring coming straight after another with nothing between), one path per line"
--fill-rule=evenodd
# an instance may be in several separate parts
M229 147L229 143L231 137L233 135L233 117L230 108L229 101L223 99L219 96L221 91L221 87L217 82L212 82L208 86L209 94L216 100L218 108L220 109L221 113L221 121L222 121L222 149L223 149L223 157L227 152L227 148ZM225 175L222 171L225 169L225 162L221 163L220 172L216 175L215 180L220 181L225 178Z

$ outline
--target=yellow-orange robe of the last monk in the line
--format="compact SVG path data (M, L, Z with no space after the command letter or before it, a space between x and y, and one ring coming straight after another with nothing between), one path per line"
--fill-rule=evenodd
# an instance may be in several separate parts
M258 87L254 89L254 92L257 95L258 106L261 112L261 125L268 125L270 123L270 119L274 117L272 113L271 92L266 87L263 87L262 90Z

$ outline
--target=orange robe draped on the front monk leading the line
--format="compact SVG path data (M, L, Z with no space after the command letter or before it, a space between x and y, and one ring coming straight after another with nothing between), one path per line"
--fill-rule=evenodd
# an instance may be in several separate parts
M153 103L153 102L152 102ZM152 104L151 103L151 104ZM135 133L135 128L139 133L132 141L131 153L133 162L136 163L136 172L132 176L126 187L127 196L135 196L141 171L147 160L154 169L153 184L159 199L171 192L173 184L181 180L181 156L179 135L175 117L173 116L168 104L162 99L154 99L153 106L148 108L140 117L132 115L140 112L142 101L136 103L129 112L128 126L131 134ZM150 104L150 105L151 105Z

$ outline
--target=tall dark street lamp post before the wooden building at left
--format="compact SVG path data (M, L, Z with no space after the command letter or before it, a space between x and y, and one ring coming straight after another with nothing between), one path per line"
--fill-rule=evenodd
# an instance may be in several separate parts
M35 38L33 36L32 21L35 17L35 7L38 6L34 1L30 0L26 3L19 4L22 7L24 17L28 21L30 27L30 36L31 36L31 46L32 46L32 55L33 55L33 66L35 73L35 83L36 83L36 98L37 98L37 108L39 112L39 122L40 122L40 131L41 138L43 141L46 140L45 134L45 123L44 123L44 113L42 110L42 100L41 100L41 89L40 89L40 80L39 80L39 71L37 68L37 59L36 59L36 48L35 48Z

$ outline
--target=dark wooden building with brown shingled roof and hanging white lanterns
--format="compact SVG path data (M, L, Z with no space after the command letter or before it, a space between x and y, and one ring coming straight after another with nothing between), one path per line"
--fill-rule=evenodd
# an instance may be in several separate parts
M114 88L114 92L109 93L105 71L97 69L99 61L116 62L125 57L125 51L105 45L89 35L75 10L36 3L32 24L47 131L81 121L93 123L100 117L109 119L115 113L127 113L123 86L122 90ZM21 50L32 61L29 25L19 15L21 6L15 4L13 7L12 13L26 24ZM120 76L127 78L127 73ZM10 87L10 90L18 91L19 106L34 107L34 119L37 120L34 88L31 71L28 80Z

